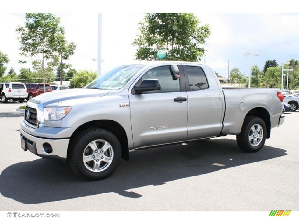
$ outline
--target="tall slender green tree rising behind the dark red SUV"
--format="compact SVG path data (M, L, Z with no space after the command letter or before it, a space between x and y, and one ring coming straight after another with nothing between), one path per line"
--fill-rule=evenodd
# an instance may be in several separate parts
M51 13L25 13L25 19L25 26L19 26L16 29L20 35L18 39L21 44L19 48L22 51L21 56L39 60L43 82L45 83L45 63L47 63L48 68L57 63L55 40L59 30L60 18Z

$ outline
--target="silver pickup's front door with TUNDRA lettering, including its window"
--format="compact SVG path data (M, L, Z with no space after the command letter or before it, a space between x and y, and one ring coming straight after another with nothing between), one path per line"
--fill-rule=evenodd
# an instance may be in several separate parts
M178 67L179 79L173 78L170 65L163 65L147 70L135 84L140 85L145 79L158 79L161 90L136 94L134 88L130 88L134 148L187 139L187 93L182 66Z

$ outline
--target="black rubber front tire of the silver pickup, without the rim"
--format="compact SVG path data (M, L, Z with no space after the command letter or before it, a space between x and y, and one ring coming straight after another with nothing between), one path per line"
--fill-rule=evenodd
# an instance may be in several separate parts
M95 140L104 140L111 145L113 158L108 168L103 171L94 172L86 167L83 162L83 153L88 145ZM118 168L121 158L121 146L117 137L111 132L101 128L89 128L80 132L75 138L74 143L69 147L68 163L72 170L79 176L88 180L100 180L111 176ZM99 149L100 150L100 149ZM94 151L93 151L94 152ZM102 157L103 158L103 157ZM95 160L95 159L94 159ZM95 161L90 161L94 163ZM101 162L101 161L100 161ZM103 165L103 162L102 162Z

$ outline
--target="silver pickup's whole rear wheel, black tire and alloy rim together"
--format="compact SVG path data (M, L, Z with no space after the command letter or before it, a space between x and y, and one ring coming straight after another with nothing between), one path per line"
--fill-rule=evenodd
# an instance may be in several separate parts
M260 117L245 117L241 133L236 136L239 148L245 152L257 152L263 148L267 137L266 124Z

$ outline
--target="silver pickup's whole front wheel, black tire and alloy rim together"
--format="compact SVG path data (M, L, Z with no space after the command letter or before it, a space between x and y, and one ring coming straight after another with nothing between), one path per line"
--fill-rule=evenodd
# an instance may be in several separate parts
M109 177L118 168L121 158L120 142L114 134L101 128L80 132L69 150L72 170L88 180Z

